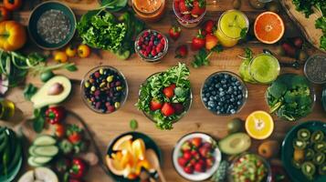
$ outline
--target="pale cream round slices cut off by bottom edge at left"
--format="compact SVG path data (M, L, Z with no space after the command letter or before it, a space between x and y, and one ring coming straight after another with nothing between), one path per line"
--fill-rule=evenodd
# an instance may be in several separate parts
M47 167L37 167L27 171L18 182L58 182L57 175Z

